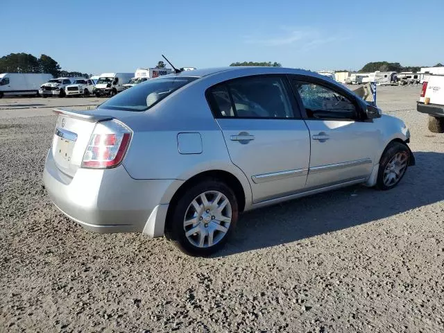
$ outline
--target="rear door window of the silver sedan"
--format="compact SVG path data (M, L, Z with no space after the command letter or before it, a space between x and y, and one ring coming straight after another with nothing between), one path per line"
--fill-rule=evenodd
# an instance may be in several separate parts
M293 118L293 109L280 77L238 78L210 88L216 117Z

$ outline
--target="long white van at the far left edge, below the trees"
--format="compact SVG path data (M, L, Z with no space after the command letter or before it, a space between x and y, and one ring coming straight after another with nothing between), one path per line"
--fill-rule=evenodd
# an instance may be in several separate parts
M42 83L53 78L51 74L4 73L0 74L0 99L8 95L35 95Z

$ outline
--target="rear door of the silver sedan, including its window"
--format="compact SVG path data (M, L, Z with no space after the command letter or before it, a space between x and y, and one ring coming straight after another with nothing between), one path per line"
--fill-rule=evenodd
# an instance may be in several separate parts
M305 187L309 132L285 76L249 76L211 87L207 99L253 203Z

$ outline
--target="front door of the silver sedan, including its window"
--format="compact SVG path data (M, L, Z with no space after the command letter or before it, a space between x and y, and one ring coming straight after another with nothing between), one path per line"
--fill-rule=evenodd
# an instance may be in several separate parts
M306 188L368 178L381 133L372 121L361 120L356 97L318 78L293 77L292 87L310 133Z

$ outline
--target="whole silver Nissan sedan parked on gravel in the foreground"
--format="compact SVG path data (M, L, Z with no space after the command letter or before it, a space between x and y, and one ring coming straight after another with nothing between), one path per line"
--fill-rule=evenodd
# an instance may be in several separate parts
M298 69L182 71L56 113L43 175L56 206L87 230L166 234L191 255L219 250L241 212L392 189L415 163L403 121Z

